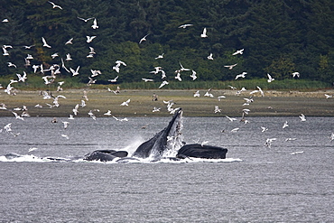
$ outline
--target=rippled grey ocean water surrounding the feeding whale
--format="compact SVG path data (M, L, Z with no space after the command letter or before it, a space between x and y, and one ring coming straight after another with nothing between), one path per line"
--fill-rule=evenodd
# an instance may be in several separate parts
M334 117L306 118L183 117L185 142L225 147L227 159L100 163L79 157L133 153L171 118L0 117L19 134L0 133L0 222L332 222Z

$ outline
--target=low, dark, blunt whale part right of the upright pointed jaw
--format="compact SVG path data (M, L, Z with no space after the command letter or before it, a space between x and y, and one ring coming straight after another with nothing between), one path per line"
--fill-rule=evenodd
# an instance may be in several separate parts
M186 144L181 147L176 157L183 159L187 157L205 159L225 159L227 149L212 145Z

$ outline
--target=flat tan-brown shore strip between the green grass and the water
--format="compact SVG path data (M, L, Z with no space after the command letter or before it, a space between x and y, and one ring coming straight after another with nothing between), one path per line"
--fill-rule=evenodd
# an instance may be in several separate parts
M236 84L236 83L234 83ZM3 90L0 92L0 103L4 103L7 109L0 110L0 116L14 116L14 108L28 107L26 111L30 116L70 116L73 108L78 104L79 113L76 117L87 117L92 111L95 116L102 117L108 110L112 116L171 116L167 110L167 104L163 101L174 103L172 108L181 107L183 116L242 116L242 110L250 110L247 116L334 116L334 89L300 89L300 90L274 90L264 89L264 97L259 92L250 95L254 90L247 89L237 94L237 89L212 88L209 92L213 98L205 97L207 88L201 89L123 89L122 85L119 94L108 91L107 88L116 89L118 85L94 86L77 89L64 89L57 92L54 88L42 90L24 90L16 88L15 95L8 95ZM205 87L205 86L203 86ZM195 98L194 93L199 90L200 97ZM61 95L65 98L58 98L59 107L54 105L54 98L43 99L43 93L48 92L56 98ZM84 98L85 93L88 100ZM153 101L153 94L158 96ZM326 98L325 94L333 98ZM225 98L220 98L224 96ZM245 106L244 98L252 98L254 102ZM120 106L130 99L128 106ZM81 107L81 100L86 102ZM49 104L50 106L48 106ZM40 105L42 107L35 107ZM221 112L215 113L218 106ZM153 108L161 108L159 112L153 112ZM16 111L19 115L23 111ZM111 117L111 116L109 116Z

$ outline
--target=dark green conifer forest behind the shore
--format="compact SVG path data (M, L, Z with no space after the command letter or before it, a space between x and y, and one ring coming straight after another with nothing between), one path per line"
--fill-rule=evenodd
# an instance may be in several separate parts
M196 70L197 80L232 80L247 72L245 79L301 79L334 82L334 2L332 0L0 0L0 76L33 72L32 65L60 65L60 76L72 76L61 68L61 59L73 77L87 82L90 70L100 70L99 83L167 80L175 70ZM94 19L87 22L79 18ZM8 19L8 22L5 22ZM192 24L179 28L181 24ZM200 37L207 29L207 38ZM146 41L139 43L146 35ZM87 42L87 36L96 36ZM42 37L51 48L43 47ZM72 44L65 44L71 38ZM31 49L24 46L34 45ZM96 54L88 58L90 49ZM5 50L4 50L5 49ZM243 54L232 55L245 49ZM5 54L8 51L9 55ZM51 58L53 53L58 57ZM163 59L156 59L163 53ZM212 53L213 60L208 60ZM24 58L31 54L31 65ZM113 70L122 60L119 73ZM9 67L14 63L17 68ZM229 70L226 65L237 64ZM44 75L37 71L41 77ZM191 71L182 73L192 80ZM296 79L296 77L295 77Z

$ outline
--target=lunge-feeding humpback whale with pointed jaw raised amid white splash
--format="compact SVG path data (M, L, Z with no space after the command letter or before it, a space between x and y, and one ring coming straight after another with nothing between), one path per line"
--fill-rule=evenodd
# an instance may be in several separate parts
M149 158L151 161L158 161L162 157L180 160L187 157L205 159L225 159L227 149L212 145L185 144L182 140L182 109L179 108L172 116L170 123L155 134L153 138L139 145L132 156L126 151L96 150L84 156L87 161L113 161L127 162Z

